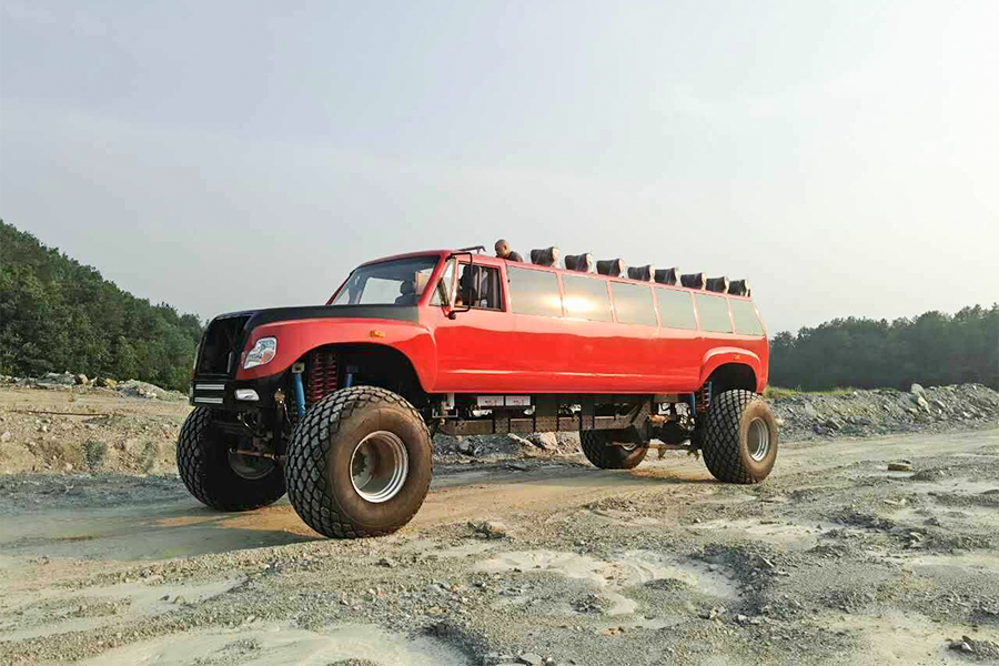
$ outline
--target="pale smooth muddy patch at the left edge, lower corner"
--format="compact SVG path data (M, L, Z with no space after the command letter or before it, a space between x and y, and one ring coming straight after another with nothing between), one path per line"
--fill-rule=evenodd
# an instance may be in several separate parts
M17 624L0 625L0 642L90 630L112 622L164 615L183 607L175 603L178 597L182 597L182 604L200 604L233 589L243 581L245 578L240 577L186 585L120 583L71 593L48 591L41 596L32 596L37 604L22 607Z

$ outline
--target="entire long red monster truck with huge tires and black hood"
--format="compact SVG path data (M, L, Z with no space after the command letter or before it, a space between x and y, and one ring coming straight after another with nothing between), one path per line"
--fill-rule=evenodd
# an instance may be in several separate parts
M287 492L326 536L389 534L423 504L436 431L578 431L597 467L687 448L722 481L766 478L777 423L744 281L472 250L365 263L325 305L212 320L178 440L191 494L245 511Z

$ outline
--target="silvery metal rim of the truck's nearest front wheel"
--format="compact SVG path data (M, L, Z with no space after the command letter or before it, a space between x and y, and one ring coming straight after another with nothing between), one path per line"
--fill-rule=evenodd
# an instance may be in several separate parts
M351 484L373 504L395 497L406 482L410 454L398 435L376 431L361 440L351 454Z

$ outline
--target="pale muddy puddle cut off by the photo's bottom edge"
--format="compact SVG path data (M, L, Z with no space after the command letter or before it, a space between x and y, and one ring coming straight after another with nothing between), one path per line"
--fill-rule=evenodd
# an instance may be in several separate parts
M407 638L369 625L311 632L281 625L164 636L105 652L80 666L327 666L357 659L379 666L467 666L471 659L430 637Z

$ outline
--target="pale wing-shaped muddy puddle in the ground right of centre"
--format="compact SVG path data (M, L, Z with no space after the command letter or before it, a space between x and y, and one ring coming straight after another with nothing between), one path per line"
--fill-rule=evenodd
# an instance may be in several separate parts
M484 573L549 572L566 578L587 581L610 602L608 615L635 613L638 603L622 589L665 578L676 578L700 592L723 599L736 599L738 587L728 576L707 564L682 561L652 551L627 551L610 562L575 553L519 551L502 553L475 565Z

